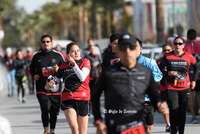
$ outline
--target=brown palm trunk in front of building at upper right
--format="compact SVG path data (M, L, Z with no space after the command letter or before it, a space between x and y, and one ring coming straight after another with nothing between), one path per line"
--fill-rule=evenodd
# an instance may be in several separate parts
M156 0L156 30L157 43L162 45L165 42L163 0Z

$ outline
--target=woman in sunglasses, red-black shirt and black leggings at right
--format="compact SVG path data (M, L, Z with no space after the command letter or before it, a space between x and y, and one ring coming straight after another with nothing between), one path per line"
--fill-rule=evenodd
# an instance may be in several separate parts
M171 134L177 133L177 127L179 134L184 133L190 88L194 90L198 76L198 63L191 54L183 51L184 42L182 37L176 37L175 50L165 54L160 62L160 69L166 80ZM194 77L191 82L188 74L190 66L194 67Z

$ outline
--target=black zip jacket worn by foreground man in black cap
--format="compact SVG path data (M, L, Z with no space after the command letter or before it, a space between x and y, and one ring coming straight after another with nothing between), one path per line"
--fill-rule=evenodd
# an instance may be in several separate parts
M142 121L145 94L149 95L154 107L160 101L151 70L139 63L130 70L121 63L106 68L92 90L95 120L101 119L101 112L104 112L106 123L113 125ZM100 111L102 91L105 94L105 109Z

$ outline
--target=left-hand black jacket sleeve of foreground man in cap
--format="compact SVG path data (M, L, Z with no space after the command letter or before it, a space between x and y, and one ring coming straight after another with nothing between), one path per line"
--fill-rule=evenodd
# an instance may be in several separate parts
M94 115L95 121L98 119L102 119L101 111L100 111L100 97L102 94L102 91L106 89L106 77L104 72L101 73L99 76L99 80L95 84L95 86L92 88L92 112Z

